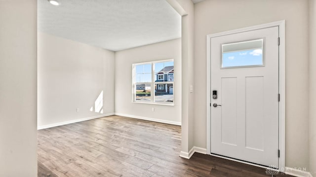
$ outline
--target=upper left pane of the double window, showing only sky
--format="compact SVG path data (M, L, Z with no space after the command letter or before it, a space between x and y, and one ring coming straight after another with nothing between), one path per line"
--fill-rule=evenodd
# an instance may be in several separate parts
M152 64L138 64L135 67L135 82L152 82Z

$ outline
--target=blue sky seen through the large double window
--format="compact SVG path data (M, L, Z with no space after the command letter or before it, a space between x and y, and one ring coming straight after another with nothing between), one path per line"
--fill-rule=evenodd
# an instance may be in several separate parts
M155 74L166 66L173 66L173 61L158 62L155 64ZM155 78L157 76L155 75ZM136 83L152 82L152 65L151 64L139 64L136 65Z

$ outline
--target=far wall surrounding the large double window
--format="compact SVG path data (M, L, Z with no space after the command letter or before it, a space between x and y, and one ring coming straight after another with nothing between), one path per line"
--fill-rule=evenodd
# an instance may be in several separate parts
M174 59L174 106L132 102L132 64ZM181 122L181 39L115 53L115 112L119 115ZM155 108L155 112L152 111Z

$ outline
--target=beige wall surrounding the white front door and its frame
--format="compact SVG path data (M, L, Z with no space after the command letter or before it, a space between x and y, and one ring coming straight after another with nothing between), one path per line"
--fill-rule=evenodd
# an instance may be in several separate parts
M309 170L308 0L205 0L195 4L194 144L206 148L206 35L279 20L286 21L285 165Z

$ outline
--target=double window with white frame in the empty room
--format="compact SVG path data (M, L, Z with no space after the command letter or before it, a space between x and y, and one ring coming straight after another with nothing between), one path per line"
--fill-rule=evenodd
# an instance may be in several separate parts
M134 63L133 101L173 105L173 67L173 59Z

